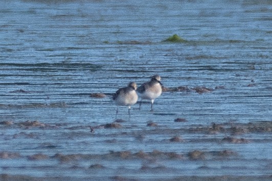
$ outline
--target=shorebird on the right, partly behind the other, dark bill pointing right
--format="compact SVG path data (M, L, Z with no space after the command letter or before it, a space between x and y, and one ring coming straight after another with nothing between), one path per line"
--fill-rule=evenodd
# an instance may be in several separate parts
M160 81L160 75L153 75L149 82L144 83L137 90L140 93L142 99L149 99L151 101L151 111L153 111L153 103L155 98L160 96L163 91L163 85ZM139 110L141 109L141 104L142 102L140 102Z

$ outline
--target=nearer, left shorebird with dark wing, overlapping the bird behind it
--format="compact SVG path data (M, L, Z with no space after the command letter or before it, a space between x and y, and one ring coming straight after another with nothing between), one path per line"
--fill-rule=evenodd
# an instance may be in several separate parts
M127 87L123 87L116 91L116 93L112 96L112 99L116 102L117 106L128 106L128 114L130 116L130 107L134 105L138 100L138 95L136 92L137 84L131 82ZM116 117L118 113L118 107L116 110Z

